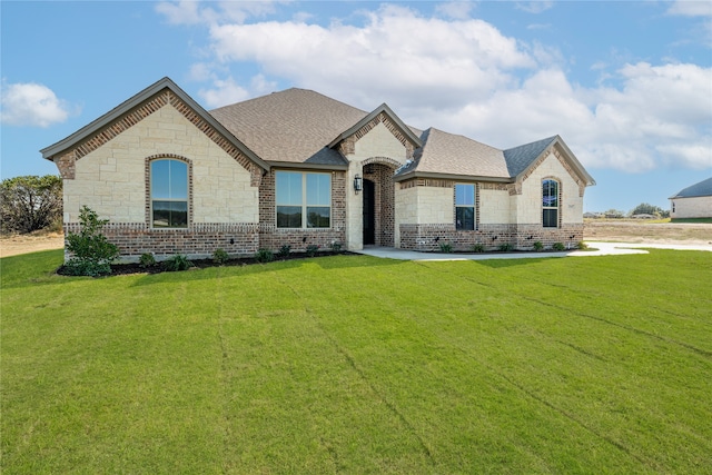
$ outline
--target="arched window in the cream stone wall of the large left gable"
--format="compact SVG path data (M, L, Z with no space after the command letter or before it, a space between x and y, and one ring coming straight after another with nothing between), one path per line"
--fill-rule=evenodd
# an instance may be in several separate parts
M151 225L155 228L188 227L188 164L154 160L151 174Z

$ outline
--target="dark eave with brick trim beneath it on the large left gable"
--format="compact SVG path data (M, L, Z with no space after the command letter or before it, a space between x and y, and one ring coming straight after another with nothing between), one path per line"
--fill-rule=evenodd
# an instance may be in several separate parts
M253 175L253 180L259 184L261 170L268 170L268 165L237 140L168 78L149 86L97 120L59 142L40 150L40 152L43 158L57 165L62 178L73 179L77 160L109 142L165 106L175 108L246 170L249 170Z

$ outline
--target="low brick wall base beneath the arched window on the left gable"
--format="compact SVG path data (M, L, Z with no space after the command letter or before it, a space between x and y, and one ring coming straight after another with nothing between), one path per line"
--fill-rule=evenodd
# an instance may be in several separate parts
M65 236L79 232L78 222L65 224ZM185 229L151 229L144 222L109 222L103 227L107 239L119 247L119 261L138 261L141 254L152 253L156 260L176 254L190 259L206 259L220 248L231 256L251 256L259 248L258 225L194 224ZM65 243L67 244L67 243ZM71 256L65 253L65 258Z

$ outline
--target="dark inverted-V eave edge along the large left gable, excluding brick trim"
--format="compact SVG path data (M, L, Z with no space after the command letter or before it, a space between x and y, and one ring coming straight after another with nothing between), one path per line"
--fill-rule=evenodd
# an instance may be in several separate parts
M125 100L123 102L121 102L120 105L118 105L117 107L115 107L113 109L111 109L110 111L105 113L103 116L101 116L98 119L89 122L88 125L86 125L81 129L77 130L75 133L70 135L69 137L67 137L67 138L56 142L56 144L49 146L49 147L46 147L46 148L41 149L40 154L42 154L42 158L44 158L47 160L50 160L50 161L53 161L52 158L55 156L57 156L57 155L61 154L62 151L76 146L77 144L79 144L80 141L86 139L87 137L89 137L92 133L96 133L97 131L99 131L102 128L107 127L108 125L110 125L111 122L116 121L121 116L123 116L125 113L127 113L128 111L134 109L135 107L139 106L145 100L149 99L150 97L159 93L164 89L169 89L172 93L178 96L178 98L180 98L180 100L182 100L190 108L192 108L200 116L201 119L204 119L206 122L208 122L212 128L215 128L226 139L228 139L235 147L237 147L237 149L240 152L245 154L245 156L247 158L249 158L251 161L257 164L265 171L269 170L269 165L265 160L259 158L245 144L243 144L240 140L238 140L237 137L235 137L233 133L230 133L230 131L227 130L212 116L210 116L210 113L208 113L208 111L205 110L202 108L202 106L200 106L198 102L196 102L190 96L188 96L188 93L186 91L180 89L180 87L178 87L178 85L176 85L168 77L165 77L165 78L158 80L157 82L155 82L151 86L147 87L146 89L144 89L142 91L140 91L136 96Z

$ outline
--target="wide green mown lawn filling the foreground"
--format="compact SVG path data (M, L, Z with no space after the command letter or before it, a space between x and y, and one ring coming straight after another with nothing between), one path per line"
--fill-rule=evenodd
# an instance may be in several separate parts
M712 253L0 260L3 474L712 473Z

